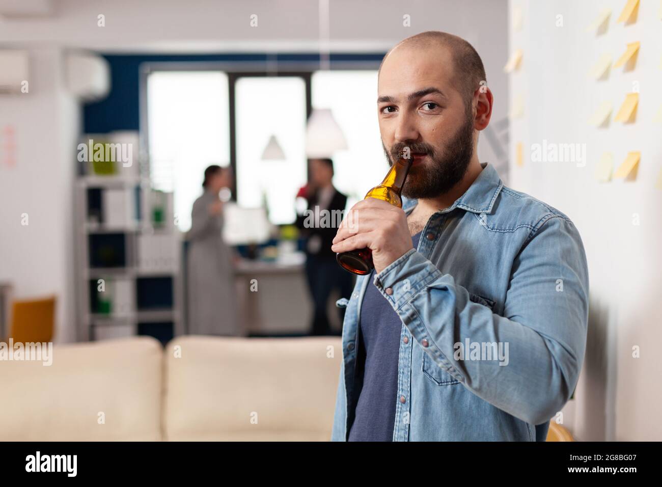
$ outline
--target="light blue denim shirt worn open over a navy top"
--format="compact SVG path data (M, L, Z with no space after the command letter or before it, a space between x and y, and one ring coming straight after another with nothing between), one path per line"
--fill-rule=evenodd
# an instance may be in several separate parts
M354 420L359 312L372 285L402 320L393 441L545 441L573 394L589 308L579 233L481 166L428 219L418 248L336 301L346 313L332 441L347 441Z

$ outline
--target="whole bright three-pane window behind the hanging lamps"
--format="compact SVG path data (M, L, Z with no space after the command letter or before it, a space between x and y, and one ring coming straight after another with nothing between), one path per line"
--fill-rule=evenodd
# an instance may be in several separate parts
M210 164L230 164L230 103L234 93L236 199L246 208L265 203L275 225L295 220L295 195L307 178L307 99L330 108L348 150L334 154L334 185L348 207L363 199L388 169L377 119L377 71L318 71L279 76L220 70L156 70L147 76L150 173L156 189L173 191L181 231ZM234 83L234 89L229 89ZM307 84L308 83L308 84ZM310 93L307 93L307 86ZM262 160L275 136L283 160Z

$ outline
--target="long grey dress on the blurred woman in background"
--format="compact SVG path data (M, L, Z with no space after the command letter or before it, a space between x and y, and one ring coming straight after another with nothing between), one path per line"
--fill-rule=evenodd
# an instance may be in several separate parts
M191 335L242 336L232 252L222 239L223 216L209 214L214 201L218 195L205 191L191 211L187 234L188 330Z

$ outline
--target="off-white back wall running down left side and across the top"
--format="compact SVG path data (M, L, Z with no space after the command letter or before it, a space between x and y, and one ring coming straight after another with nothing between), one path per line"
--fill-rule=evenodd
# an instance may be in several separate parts
M310 0L57 0L52 15L2 17L0 48L30 50L30 93L0 95L0 124L17 128L18 164L0 167L0 280L18 297L57 292L58 341L75 340L73 173L79 115L62 85L62 53L316 52L318 3ZM97 15L105 27L97 27ZM258 27L250 27L250 15ZM495 93L495 119L507 113L501 67L507 56L506 0L330 1L330 49L384 52L423 30L463 36L478 50ZM402 26L410 15L411 27ZM375 87L376 89L376 87ZM370 100L369 103L374 103ZM375 123L377 123L375 119ZM483 160L495 156L481 139ZM381 175L379 176L381 177ZM30 225L20 226L26 212Z

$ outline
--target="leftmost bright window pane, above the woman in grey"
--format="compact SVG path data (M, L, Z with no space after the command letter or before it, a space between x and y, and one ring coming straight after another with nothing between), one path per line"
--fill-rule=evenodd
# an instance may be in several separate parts
M205 168L230 162L228 76L219 71L156 71L147 78L150 174L174 192L181 231L191 228Z

